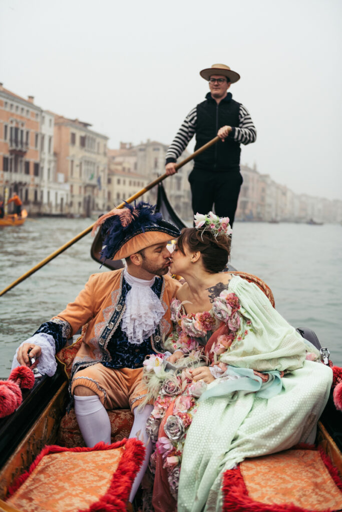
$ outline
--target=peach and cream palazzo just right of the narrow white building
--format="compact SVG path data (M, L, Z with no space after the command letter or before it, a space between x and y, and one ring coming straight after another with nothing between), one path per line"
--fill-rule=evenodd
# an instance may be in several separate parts
M91 124L55 116L54 153L57 174L70 185L69 212L90 216L107 206L108 137L90 129Z

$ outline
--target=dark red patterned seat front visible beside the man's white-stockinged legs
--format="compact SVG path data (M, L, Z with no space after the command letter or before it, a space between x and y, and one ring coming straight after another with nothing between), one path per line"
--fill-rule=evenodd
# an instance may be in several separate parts
M128 437L133 425L133 414L130 409L114 409L107 411L111 425L112 443ZM71 409L61 421L58 430L58 444L72 448L74 446L85 446L81 431L75 416L74 409Z

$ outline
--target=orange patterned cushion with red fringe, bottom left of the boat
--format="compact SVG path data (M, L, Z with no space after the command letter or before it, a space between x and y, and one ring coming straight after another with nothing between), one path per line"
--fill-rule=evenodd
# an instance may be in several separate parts
M25 512L124 511L144 456L137 439L92 448L46 446L7 502Z

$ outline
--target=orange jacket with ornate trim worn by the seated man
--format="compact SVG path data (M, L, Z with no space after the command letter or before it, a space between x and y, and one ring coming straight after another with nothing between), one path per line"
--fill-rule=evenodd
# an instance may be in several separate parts
M76 364L85 367L95 362L111 360L107 346L126 307L122 296L123 274L121 269L92 274L75 301L52 318L53 322L62 324L67 338L83 327L82 344L74 358L73 366ZM154 352L165 352L162 342L172 330L170 302L180 286L178 281L168 275L161 279L163 285L160 301L165 314L151 336L151 347Z

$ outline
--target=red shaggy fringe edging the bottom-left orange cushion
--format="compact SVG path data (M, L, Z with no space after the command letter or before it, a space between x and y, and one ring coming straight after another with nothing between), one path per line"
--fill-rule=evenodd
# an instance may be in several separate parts
M91 448L65 448L63 446L50 445L45 446L42 452L36 457L29 467L29 470L18 477L8 490L8 496L12 496L15 491L27 480L35 467L39 464L45 455L61 452L93 452L97 450L113 450L125 446L123 457L113 474L107 493L93 503L89 508L78 510L77 512L123 512L126 510L126 503L132 487L135 476L142 466L146 449L144 443L138 439L123 439L113 444L99 442Z

